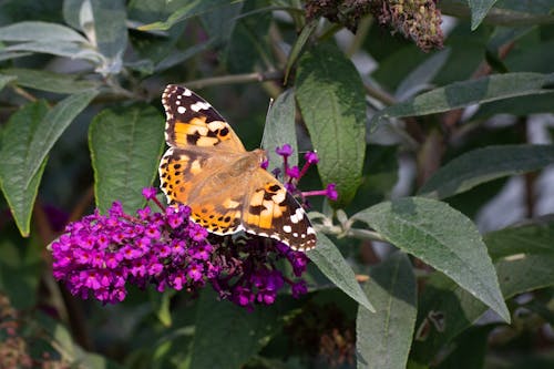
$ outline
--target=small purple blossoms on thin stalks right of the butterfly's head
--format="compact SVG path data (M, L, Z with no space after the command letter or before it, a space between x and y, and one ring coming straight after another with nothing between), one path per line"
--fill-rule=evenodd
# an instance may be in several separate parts
M293 146L290 146L289 144L285 144L281 147L277 147L275 152L277 153L277 155L283 157L283 172L285 174L284 182L288 192L295 195L299 195L302 199L309 196L326 196L330 201L337 201L338 193L335 183L329 183L325 189L308 192L300 192L297 187L298 182L306 174L306 172L308 172L308 168L319 162L319 157L315 152L309 151L304 155L306 163L304 164L301 170L297 165L288 165L288 157L293 155ZM278 176L280 173L280 170L276 170L274 174Z

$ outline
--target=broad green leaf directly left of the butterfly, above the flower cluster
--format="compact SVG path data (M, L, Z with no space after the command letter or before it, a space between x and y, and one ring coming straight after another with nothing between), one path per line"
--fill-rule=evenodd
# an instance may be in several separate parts
M164 147L164 120L150 105L103 110L89 131L96 206L105 213L121 201L127 213L144 206Z

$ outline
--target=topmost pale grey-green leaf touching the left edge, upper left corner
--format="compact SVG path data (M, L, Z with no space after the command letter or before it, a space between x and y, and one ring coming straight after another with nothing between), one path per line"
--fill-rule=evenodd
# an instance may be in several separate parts
M55 41L88 43L79 32L58 23L27 21L0 27L0 41Z

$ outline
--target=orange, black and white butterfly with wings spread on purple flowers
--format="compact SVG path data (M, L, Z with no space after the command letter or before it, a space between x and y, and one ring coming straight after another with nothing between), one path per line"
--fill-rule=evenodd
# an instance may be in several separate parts
M225 119L186 88L167 85L162 103L170 148L160 181L170 205L187 205L191 218L216 235L244 230L296 250L316 246L304 208L260 167L263 150L246 151Z

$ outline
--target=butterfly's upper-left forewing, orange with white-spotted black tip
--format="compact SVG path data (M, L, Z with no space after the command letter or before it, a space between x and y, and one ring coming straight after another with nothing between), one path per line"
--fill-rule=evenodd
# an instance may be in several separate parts
M162 95L162 103L167 119L165 141L170 146L246 151L225 119L191 90L170 84Z

